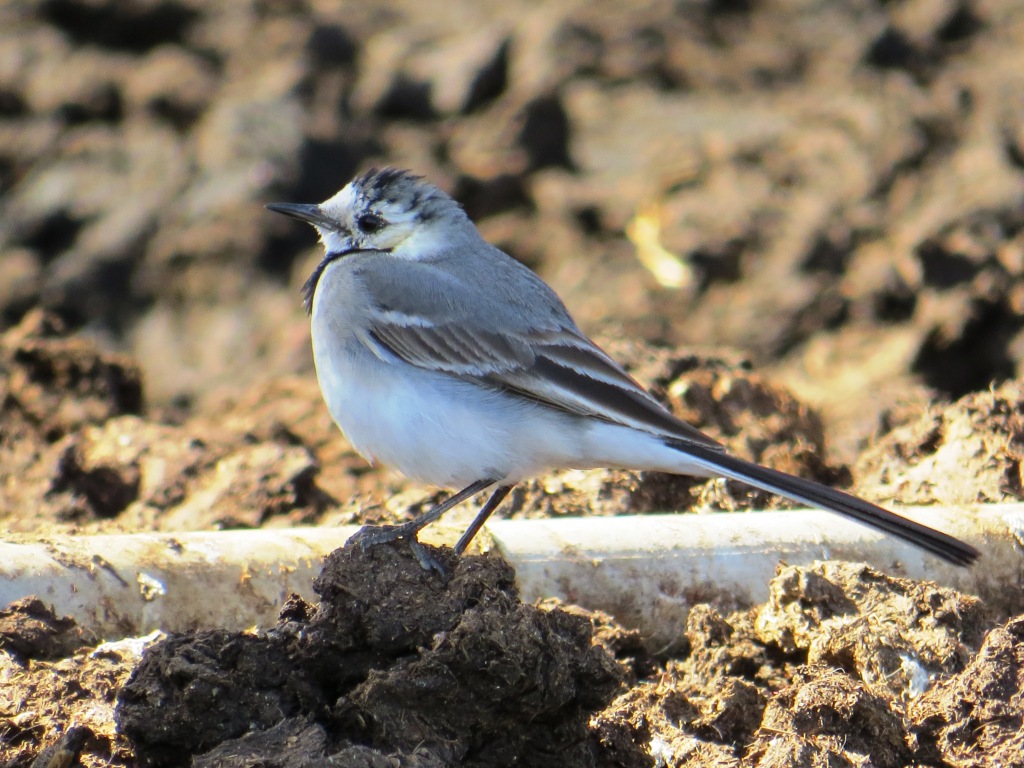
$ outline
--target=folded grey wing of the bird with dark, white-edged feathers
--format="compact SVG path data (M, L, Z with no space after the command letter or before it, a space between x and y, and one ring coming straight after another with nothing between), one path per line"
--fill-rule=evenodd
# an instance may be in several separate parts
M648 394L577 328L557 295L517 262L501 262L495 282L480 285L435 265L395 261L378 261L359 274L374 298L360 340L378 355L722 450Z

